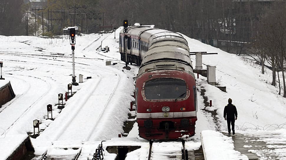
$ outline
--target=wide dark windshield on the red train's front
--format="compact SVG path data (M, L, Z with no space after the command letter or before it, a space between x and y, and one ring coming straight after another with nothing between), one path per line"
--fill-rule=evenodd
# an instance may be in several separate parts
M144 92L147 100L183 99L187 95L187 87L184 80L160 78L147 81Z

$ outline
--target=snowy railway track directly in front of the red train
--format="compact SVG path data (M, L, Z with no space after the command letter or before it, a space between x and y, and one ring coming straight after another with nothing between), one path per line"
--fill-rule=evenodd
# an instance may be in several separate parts
M185 141L181 142L153 142L149 141L148 160L195 160L195 151L185 148ZM173 147L170 147L173 146Z

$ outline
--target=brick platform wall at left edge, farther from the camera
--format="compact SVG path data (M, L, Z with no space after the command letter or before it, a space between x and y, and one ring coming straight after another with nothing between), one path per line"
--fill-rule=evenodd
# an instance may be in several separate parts
M0 88L0 106L9 102L14 97L15 94L10 82Z

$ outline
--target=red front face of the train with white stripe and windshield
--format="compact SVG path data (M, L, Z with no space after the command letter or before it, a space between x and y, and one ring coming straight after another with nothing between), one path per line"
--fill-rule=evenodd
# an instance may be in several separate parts
M136 80L137 123L144 139L181 139L195 134L195 78L185 70L154 70Z

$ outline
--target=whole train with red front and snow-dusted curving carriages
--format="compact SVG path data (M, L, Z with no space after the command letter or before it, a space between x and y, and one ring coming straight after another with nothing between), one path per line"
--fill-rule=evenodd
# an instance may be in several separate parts
M130 26L128 33L120 32L119 52L122 61L140 66L134 94L139 137L173 140L195 135L196 80L186 39L164 29Z

